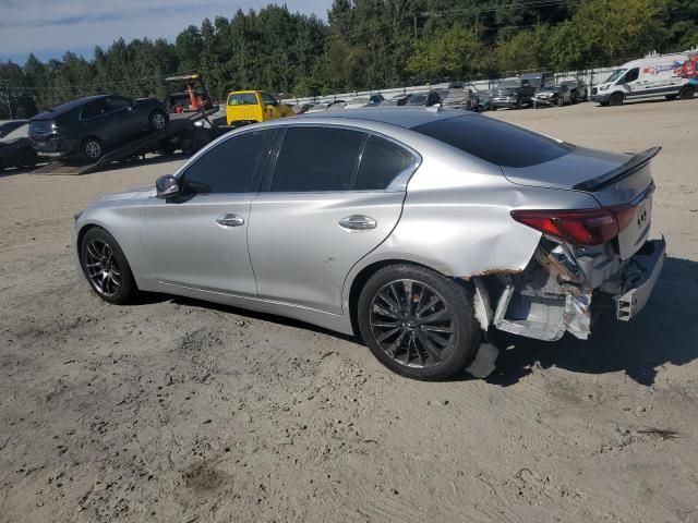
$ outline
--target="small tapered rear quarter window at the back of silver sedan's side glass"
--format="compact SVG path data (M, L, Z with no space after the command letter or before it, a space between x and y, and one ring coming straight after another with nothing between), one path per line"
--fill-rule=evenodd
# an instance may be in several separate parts
M383 191L398 174L414 163L414 155L409 150L378 136L371 136L361 155L361 166L353 188Z

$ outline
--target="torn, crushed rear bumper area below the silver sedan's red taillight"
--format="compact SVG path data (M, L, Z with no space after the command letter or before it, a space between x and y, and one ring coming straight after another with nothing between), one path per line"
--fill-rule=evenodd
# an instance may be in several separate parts
M604 304L611 304L614 317L627 321L647 304L662 270L665 248L662 238L646 242L625 262L597 255L590 264L567 246L551 251L541 245L524 272L501 277L504 289L492 325L545 341L558 340L565 332L587 339L592 301L594 316ZM594 281L600 275L605 275L603 281Z

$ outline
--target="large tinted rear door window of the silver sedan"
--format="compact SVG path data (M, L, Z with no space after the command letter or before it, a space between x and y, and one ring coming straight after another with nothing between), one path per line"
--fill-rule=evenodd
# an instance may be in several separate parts
M346 129L288 127L272 192L350 191L365 134Z

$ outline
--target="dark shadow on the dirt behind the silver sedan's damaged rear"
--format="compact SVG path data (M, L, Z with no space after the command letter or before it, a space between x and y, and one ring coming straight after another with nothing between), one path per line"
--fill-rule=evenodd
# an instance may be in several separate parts
M650 386L664 364L685 365L698 358L698 263L667 257L650 301L630 321L600 318L589 340L566 335L556 342L507 337L496 369L488 381L514 385L534 367L574 373L625 372Z

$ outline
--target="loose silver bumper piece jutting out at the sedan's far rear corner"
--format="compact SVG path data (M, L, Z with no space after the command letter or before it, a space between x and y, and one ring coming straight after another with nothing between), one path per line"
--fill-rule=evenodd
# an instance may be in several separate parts
M666 242L663 238L647 242L630 258L627 267L631 273L624 282L623 291L613 296L616 319L628 321L645 307L662 271L665 258Z

